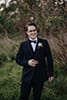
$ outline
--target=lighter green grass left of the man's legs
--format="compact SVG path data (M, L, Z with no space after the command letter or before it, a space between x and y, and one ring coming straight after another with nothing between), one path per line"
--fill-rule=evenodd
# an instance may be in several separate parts
M0 69L0 100L18 100L20 92L21 67L15 62Z

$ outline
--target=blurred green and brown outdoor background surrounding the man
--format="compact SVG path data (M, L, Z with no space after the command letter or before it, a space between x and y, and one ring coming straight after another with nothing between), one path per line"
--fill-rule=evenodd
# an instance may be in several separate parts
M15 57L28 21L38 25L53 55L54 80L45 83L42 100L67 100L67 0L0 0L0 100L19 98L23 67Z

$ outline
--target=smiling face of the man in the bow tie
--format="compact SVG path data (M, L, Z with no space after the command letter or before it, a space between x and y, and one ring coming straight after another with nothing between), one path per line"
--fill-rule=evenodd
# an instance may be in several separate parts
M28 26L28 30L26 32L28 38L35 39L37 37L37 29L35 26Z

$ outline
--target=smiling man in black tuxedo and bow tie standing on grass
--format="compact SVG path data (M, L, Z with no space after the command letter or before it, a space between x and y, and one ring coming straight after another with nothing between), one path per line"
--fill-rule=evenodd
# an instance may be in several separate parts
M28 100L31 87L33 100L41 100L44 81L53 80L53 60L47 40L38 37L34 23L25 26L28 39L21 43L16 62L23 66L20 100Z

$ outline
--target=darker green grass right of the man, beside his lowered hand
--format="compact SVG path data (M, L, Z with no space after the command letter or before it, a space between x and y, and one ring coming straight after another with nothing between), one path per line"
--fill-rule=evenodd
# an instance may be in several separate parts
M54 80L45 83L42 100L66 100L67 98L67 74L64 75L59 63L54 64Z

